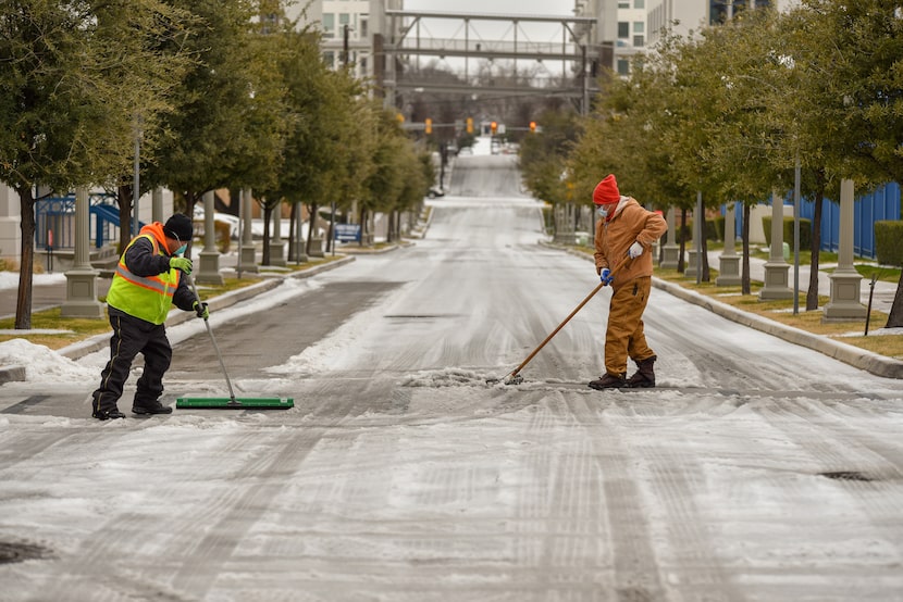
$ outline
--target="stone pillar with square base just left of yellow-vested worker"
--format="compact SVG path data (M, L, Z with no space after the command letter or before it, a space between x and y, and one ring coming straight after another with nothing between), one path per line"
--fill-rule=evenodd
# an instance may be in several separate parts
M90 206L88 189L75 189L75 256L66 272L66 300L61 317L103 318L103 304L97 300L97 272L90 263Z

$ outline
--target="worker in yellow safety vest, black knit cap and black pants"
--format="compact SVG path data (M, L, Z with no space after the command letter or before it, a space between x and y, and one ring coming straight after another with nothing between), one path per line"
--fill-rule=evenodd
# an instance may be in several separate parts
M207 303L200 303L182 273L191 274L191 260L182 256L191 240L191 218L174 214L165 224L153 222L141 228L120 258L107 293L107 313L113 335L110 361L100 374L94 392L92 416L99 421L124 418L116 402L138 353L145 368L132 402L135 414L169 414L160 403L163 375L170 367L172 348L164 322L172 305L195 311L207 318Z

